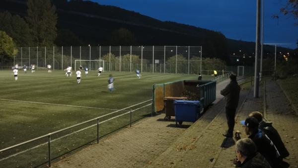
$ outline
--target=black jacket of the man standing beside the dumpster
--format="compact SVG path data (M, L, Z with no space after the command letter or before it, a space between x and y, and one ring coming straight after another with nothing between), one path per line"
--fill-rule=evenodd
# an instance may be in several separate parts
M225 96L225 107L236 109L239 102L240 86L237 81L231 80L229 84L221 90L221 94Z

